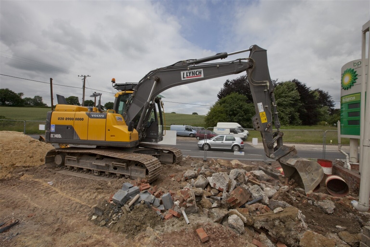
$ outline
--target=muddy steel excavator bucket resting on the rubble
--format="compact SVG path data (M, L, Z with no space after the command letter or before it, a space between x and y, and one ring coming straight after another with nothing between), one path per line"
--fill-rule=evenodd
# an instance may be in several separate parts
M300 157L279 160L285 177L294 179L305 189L306 194L312 193L324 177L324 171L319 163Z

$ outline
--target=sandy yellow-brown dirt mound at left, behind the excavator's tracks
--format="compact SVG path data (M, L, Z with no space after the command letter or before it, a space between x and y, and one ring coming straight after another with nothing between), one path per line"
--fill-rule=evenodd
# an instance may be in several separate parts
M16 167L43 165L51 144L16 131L0 131L0 178Z

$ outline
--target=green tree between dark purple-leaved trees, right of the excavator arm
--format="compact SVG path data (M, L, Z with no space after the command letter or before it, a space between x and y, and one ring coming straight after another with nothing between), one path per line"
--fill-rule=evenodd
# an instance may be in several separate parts
M300 125L298 110L302 103L294 82L281 82L275 87L275 100L281 125Z

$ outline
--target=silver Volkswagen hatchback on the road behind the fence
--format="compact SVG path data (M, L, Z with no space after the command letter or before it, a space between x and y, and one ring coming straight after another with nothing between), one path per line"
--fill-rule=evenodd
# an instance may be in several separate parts
M198 148L202 149L231 149L239 151L244 148L244 143L240 137L233 135L218 135L210 139L201 140L198 142Z

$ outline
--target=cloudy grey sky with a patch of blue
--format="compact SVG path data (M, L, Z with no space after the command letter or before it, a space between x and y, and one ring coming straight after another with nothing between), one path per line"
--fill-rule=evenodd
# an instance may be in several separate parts
M100 92L104 105L114 102L112 78L138 82L180 60L258 45L268 50L272 79L327 91L340 108L341 67L361 58L370 1L2 0L0 13L0 88L49 106L50 78L54 104L56 94L82 103L78 76L89 75L85 100ZM240 75L167 89L165 112L205 115L223 83Z

